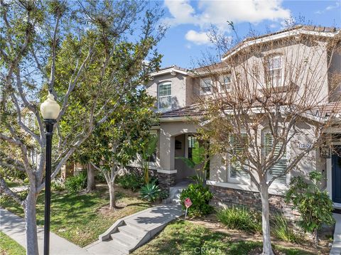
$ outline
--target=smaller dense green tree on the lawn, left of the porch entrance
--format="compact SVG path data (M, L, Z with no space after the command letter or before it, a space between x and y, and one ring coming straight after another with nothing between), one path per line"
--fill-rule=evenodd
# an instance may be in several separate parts
M124 101L124 106L112 113L106 123L98 126L81 147L92 166L101 171L107 181L110 209L116 207L114 183L117 175L134 160L156 121L152 109L154 99L144 90L131 90Z

